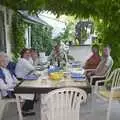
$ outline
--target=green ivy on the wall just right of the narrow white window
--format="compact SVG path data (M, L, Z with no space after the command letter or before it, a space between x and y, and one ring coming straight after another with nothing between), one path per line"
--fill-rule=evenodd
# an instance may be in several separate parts
M38 51L44 51L47 55L52 50L52 29L42 24L32 25L32 47Z

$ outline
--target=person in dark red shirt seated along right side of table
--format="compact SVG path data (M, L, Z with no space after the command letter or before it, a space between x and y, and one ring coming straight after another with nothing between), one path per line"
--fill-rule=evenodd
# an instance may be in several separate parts
M100 63L99 50L97 46L92 47L92 56L86 61L84 69L96 69Z

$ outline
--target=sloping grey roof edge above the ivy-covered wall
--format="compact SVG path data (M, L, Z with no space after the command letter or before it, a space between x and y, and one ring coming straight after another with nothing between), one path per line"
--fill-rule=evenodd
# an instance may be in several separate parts
M52 26L50 26L47 22L45 22L44 20L40 19L39 17L30 15L30 14L28 13L28 11L18 10L18 13L19 13L20 15L22 15L24 21L26 21L26 22L28 22L28 23L32 23L32 24L43 24L43 25L52 27Z

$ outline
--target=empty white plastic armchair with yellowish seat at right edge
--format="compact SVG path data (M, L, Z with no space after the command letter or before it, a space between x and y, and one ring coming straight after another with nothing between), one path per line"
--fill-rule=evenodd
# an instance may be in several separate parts
M101 92L100 92L101 89L100 89L99 84L104 83L105 81L110 81L110 80L112 80L112 86L111 86L111 90L109 92L108 98L106 98L103 95L101 95ZM98 97L102 98L103 100L109 101L108 111L107 111L107 120L110 120L112 100L118 99L118 96L116 97L115 93L120 91L120 68L115 69L105 81L97 81L96 82L95 94ZM104 89L104 88L102 88L102 89Z

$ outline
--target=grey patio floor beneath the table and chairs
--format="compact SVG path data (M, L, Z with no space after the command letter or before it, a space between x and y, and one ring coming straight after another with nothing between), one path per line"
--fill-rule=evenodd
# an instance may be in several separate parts
M88 103L82 105L81 107L81 119L80 120L106 120L106 109L107 109L107 102L96 99L96 103L94 104L94 111L91 111L90 107L91 97L88 97ZM111 120L119 120L119 109L120 103L114 102L112 104L112 113L111 113ZM39 105L38 103L35 104L35 116L25 117L24 120L39 120ZM8 109L6 108L3 119L2 120L18 120L17 108L16 104L12 103L8 105Z

